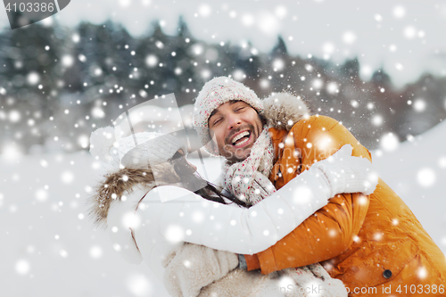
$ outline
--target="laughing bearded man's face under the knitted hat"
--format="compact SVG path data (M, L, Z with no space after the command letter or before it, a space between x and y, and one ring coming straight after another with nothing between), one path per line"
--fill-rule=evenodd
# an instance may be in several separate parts
M243 101L221 104L211 113L208 124L219 154L229 161L246 159L263 128L257 111Z

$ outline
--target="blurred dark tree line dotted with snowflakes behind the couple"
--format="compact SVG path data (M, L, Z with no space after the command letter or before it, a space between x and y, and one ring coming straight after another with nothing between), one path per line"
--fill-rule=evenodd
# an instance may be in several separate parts
M33 24L0 33L0 153L86 149L95 128L155 96L194 103L203 84L232 76L260 98L288 90L314 113L340 120L369 149L392 133L404 141L446 118L446 78L421 74L400 89L376 70L359 78L356 59L335 64L288 54L282 37L270 53L251 44L197 40L180 18L168 36L159 22L132 37L121 25L70 29Z

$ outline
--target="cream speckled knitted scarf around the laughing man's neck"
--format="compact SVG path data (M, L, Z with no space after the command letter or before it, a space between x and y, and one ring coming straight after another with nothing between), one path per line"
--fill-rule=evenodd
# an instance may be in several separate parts
M274 148L268 126L264 126L250 155L244 161L223 164L223 186L240 200L253 205L276 192L268 175L273 168Z

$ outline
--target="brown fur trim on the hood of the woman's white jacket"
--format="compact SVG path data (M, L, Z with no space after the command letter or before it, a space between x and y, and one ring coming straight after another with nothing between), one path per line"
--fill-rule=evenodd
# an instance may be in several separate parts
M123 168L105 175L103 181L95 186L92 196L88 200L90 209L88 216L93 219L98 227L107 226L107 215L112 203L125 201L123 195L126 191L132 193L135 186L147 189L147 192L155 186L172 185L180 181L175 170L169 163L154 166L155 172L162 176L153 177L152 169ZM162 182L161 182L162 181Z

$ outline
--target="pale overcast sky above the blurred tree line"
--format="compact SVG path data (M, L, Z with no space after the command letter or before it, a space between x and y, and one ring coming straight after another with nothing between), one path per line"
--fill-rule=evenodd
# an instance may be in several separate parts
M445 1L72 0L54 18L69 26L110 18L140 36L154 20L161 21L167 34L175 34L179 15L194 37L206 41L249 40L268 52L280 34L291 54L334 62L358 56L365 79L380 67L397 86L426 70L446 76ZM5 12L0 25L9 29Z

